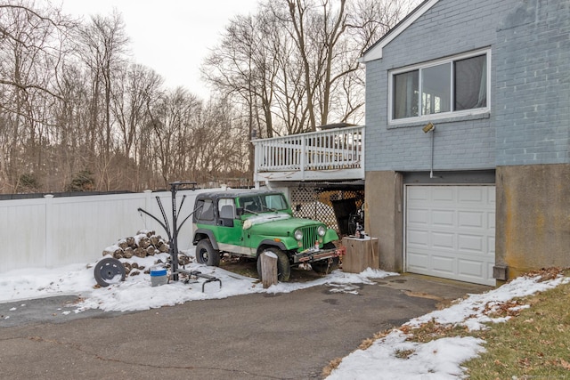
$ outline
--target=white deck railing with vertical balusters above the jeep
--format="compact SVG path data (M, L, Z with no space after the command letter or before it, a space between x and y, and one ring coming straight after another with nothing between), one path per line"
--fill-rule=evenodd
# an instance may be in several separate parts
M363 178L364 127L352 126L252 141L256 177L269 173L297 172L290 180L311 179L308 172L344 171L347 179ZM324 175L321 173L321 176ZM274 175L273 175L274 177ZM257 181L256 180L256 181Z

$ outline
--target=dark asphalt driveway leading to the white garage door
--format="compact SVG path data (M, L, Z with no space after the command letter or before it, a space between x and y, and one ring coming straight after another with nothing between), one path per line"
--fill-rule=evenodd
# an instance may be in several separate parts
M330 360L345 357L363 339L438 303L487 289L405 275L373 285L239 295L151 311L89 311L64 321L45 308L69 300L28 301L33 311L27 319L0 322L1 376L322 378Z

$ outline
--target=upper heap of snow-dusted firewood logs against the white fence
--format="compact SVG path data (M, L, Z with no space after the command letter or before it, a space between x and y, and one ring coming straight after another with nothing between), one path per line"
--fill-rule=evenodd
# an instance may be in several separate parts
M103 256L111 255L116 259L130 259L133 256L146 257L167 253L170 247L165 239L153 230L140 230L135 236L120 239L103 250Z

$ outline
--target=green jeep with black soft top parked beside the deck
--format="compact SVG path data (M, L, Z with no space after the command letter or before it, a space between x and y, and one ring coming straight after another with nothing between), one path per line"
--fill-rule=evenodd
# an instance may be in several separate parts
M281 192L226 190L199 194L192 215L193 244L198 263L218 266L220 256L257 259L261 279L264 252L277 255L280 281L288 281L290 268L310 263L314 271L328 272L338 267L344 249L337 248L335 230L318 221L293 216Z

